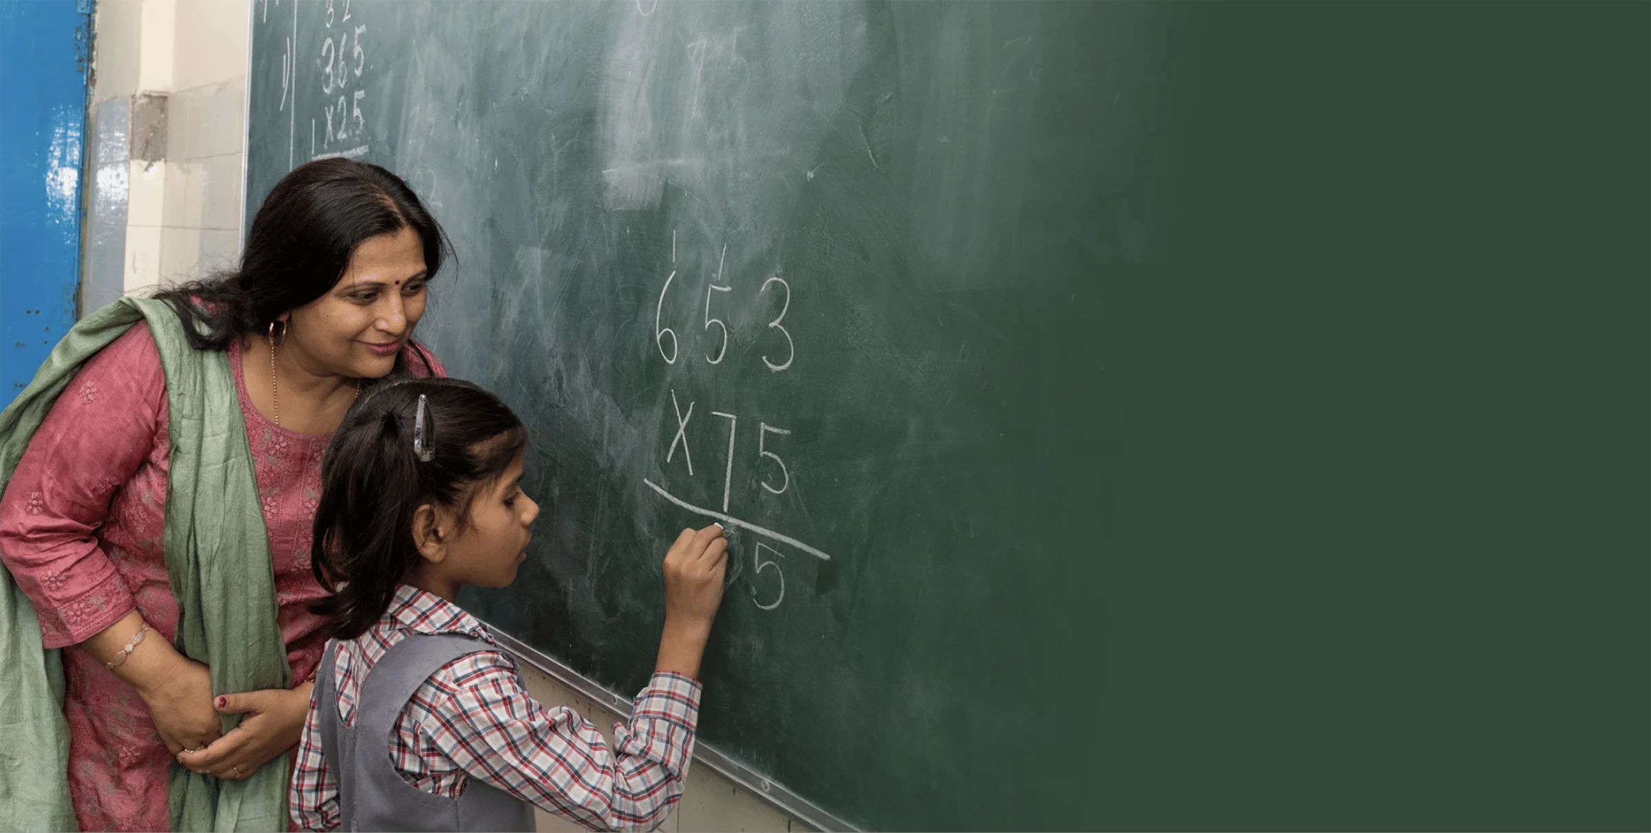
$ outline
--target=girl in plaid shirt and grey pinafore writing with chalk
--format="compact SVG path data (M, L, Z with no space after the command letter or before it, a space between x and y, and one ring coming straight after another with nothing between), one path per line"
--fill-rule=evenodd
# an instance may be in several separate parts
M525 445L499 398L454 379L370 391L334 435L312 553L334 638L292 775L299 826L532 831L540 807L652 830L682 795L721 528L684 529L665 554L654 678L609 752L583 718L535 703L454 604L466 584L510 584L527 558L538 505L522 493Z

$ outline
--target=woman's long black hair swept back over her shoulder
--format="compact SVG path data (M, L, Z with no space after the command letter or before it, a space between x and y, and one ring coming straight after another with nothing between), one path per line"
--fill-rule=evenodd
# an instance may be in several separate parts
M238 269L155 297L178 312L196 350L225 350L332 290L362 241L403 228L418 233L426 275L436 277L451 246L408 183L367 162L307 162L282 176L258 208Z

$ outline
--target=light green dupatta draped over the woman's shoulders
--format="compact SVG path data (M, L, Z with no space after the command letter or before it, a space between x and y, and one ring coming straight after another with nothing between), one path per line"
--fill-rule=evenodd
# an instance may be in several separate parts
M195 350L170 305L121 299L83 318L0 414L0 493L58 394L92 355L139 320L167 373L168 435L165 553L178 599L177 648L211 670L213 693L287 688L292 670L276 625L269 534L253 478L253 454L223 351ZM69 731L63 660L41 647L28 597L0 567L0 830L78 830L69 802ZM226 716L229 731L239 716ZM172 830L287 830L287 755L246 780L218 780L172 765Z

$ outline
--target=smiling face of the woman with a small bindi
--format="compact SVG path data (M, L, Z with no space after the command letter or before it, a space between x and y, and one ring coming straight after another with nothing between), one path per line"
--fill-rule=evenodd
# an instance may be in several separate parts
M403 228L368 238L325 295L289 312L281 351L317 376L376 379L424 315L424 241Z

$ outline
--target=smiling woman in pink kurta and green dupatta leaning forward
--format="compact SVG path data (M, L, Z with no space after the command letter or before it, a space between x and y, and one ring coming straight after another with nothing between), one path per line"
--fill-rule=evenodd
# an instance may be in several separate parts
M444 374L411 340L442 251L398 176L312 162L269 193L238 271L89 315L76 330L129 328L54 371L35 426L13 414L46 407L35 386L7 411L26 445L10 482L0 467L0 559L61 648L81 830L284 830L284 752L325 642L307 610L322 450L363 384Z

